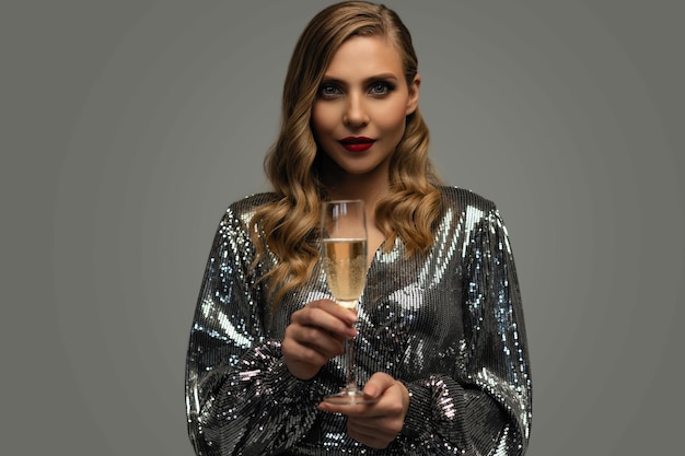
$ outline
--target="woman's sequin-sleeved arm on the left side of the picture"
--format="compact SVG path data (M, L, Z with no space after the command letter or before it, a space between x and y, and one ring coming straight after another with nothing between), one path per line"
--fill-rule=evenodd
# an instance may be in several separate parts
M278 454L302 439L318 395L290 375L269 340L254 246L239 215L223 217L205 271L186 361L188 433L198 455Z

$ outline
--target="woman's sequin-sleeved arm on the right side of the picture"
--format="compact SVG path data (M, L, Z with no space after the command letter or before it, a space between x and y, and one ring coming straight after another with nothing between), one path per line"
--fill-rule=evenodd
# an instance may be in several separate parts
M440 454L523 455L532 390L521 294L507 230L495 208L464 257L464 340L457 374L407 385L400 439Z

